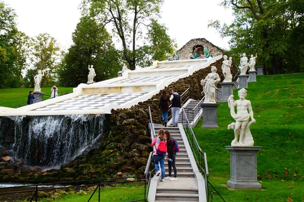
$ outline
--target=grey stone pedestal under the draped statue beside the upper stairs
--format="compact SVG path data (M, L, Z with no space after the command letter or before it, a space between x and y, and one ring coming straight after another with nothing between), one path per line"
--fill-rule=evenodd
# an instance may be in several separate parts
M219 104L203 103L203 126L205 129L218 129L216 108Z

